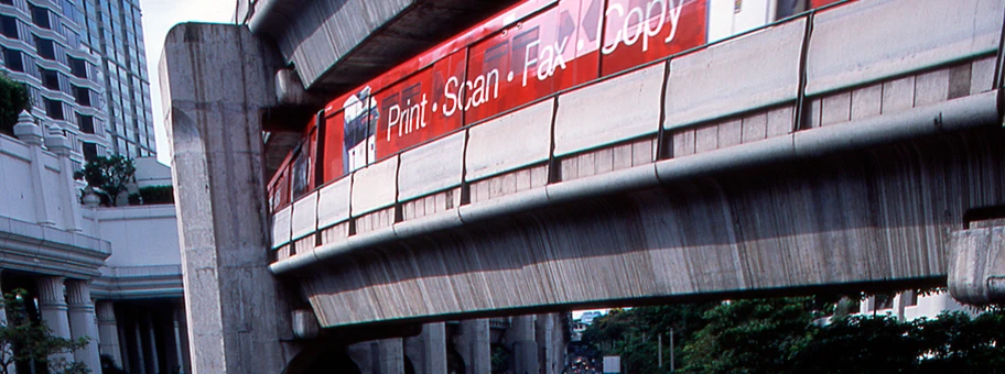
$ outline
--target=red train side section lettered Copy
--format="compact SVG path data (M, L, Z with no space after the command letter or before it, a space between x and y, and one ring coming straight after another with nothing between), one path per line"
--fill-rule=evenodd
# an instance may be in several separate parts
M601 74L606 76L705 44L704 0L609 0Z

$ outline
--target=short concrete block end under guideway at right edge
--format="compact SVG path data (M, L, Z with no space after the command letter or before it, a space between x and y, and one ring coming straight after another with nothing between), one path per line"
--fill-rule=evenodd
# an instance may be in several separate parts
M962 302L1005 301L1005 227L952 233L949 293Z

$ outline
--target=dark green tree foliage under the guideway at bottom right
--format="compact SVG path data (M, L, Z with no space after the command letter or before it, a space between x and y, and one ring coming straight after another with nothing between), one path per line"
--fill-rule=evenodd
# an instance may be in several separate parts
M614 310L583 333L623 373L1005 373L1005 311L943 312L901 322L846 316L836 298L733 300ZM833 316L829 323L824 315ZM657 365L663 334L663 367Z

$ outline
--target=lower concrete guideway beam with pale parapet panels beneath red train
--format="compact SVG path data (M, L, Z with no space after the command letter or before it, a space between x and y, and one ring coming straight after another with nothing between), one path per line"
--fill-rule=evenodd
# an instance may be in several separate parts
M797 18L370 165L275 213L270 267L324 327L945 277L1005 204L1005 4L937 6Z

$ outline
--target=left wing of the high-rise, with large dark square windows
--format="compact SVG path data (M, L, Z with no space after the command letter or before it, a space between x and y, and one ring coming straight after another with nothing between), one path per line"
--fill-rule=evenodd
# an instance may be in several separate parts
M61 1L0 0L0 69L28 85L36 122L65 133L87 158L111 146L104 62L82 41L83 13Z

